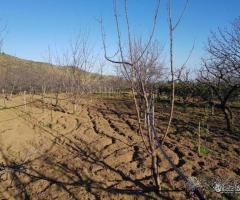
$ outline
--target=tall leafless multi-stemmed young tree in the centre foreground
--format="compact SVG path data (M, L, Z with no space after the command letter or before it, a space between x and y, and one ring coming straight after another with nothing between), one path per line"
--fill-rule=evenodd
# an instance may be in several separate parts
M150 36L146 42L142 42L142 40L133 37L131 32L131 27L129 23L128 17L128 4L127 0L125 0L125 21L127 27L127 47L124 46L124 42L121 35L121 30L119 26L119 16L117 13L117 5L116 0L113 1L114 7L114 18L117 29L117 38L118 38L118 49L117 53L113 57L109 57L107 54L106 42L105 42L105 32L103 28L102 20L101 23L101 31L102 31L102 40L103 47L105 51L105 58L111 63L117 64L121 66L123 76L129 81L130 87L132 90L132 96L135 103L135 109L137 113L138 119L138 132L142 136L143 143L149 155L152 158L152 175L155 181L155 185L157 187L157 191L160 190L160 177L158 173L158 153L159 149L162 151L161 143L158 140L158 135L155 129L155 88L154 83L158 80L158 76L161 75L161 63L160 54L158 45L153 41L153 35L156 29L156 23L159 13L160 1L157 1L157 6L153 19L153 26ZM186 6L185 6L186 8ZM170 34L170 67L172 74L172 103L171 103L171 114L168 123L168 127L166 133L164 134L163 140L166 138L167 133L169 131L169 127L171 125L171 120L173 117L173 106L174 106L174 94L175 94L175 78L174 78L174 68L173 68L173 32L178 26L185 11L185 8L180 15L176 24L172 23L172 14L171 14L171 1L169 1L169 34ZM142 115L144 113L144 116ZM146 119L146 124L144 125L144 118ZM159 149L158 149L159 148ZM173 164L171 159L165 154L169 162ZM186 176L174 167L176 171L187 180ZM202 197L201 193L198 189L195 191Z

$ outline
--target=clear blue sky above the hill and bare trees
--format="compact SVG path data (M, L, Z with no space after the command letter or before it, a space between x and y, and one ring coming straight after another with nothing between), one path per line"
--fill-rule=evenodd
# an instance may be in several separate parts
M184 0L172 0L173 20L184 7ZM122 34L124 25L123 0L117 0ZM116 26L112 0L0 0L0 26L7 25L3 51L7 54L35 61L47 61L48 47L64 51L81 32L88 38L96 63L104 61L101 30L102 18L109 54L116 49ZM137 36L149 36L156 0L129 0L131 30ZM163 48L162 59L168 65L167 1L161 0L154 39ZM200 66L210 31L229 27L240 16L240 0L189 0L185 15L174 33L174 63L180 66L194 50L187 66ZM97 71L95 64L93 71ZM114 73L105 63L106 74Z

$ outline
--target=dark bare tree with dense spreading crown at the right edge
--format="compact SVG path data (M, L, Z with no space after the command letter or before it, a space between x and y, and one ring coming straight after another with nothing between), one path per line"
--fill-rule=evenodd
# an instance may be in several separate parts
M220 104L227 128L232 131L233 114L229 100L240 88L240 18L231 30L218 29L208 39L208 56L202 59L199 81L209 86Z

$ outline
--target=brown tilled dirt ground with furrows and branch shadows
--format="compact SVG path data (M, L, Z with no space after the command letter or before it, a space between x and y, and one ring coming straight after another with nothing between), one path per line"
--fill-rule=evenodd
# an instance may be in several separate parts
M73 105L65 99L52 107L51 120L50 104L43 109L40 99L35 96L34 103L24 107L18 106L23 97L14 96L6 101L9 109L0 107L0 200L194 199L161 156L161 192L153 192L151 159L137 134L131 100L82 97L73 113ZM166 104L156 108L159 137L168 110ZM200 156L199 120L206 150ZM239 136L224 130L220 111L206 117L200 108L177 108L164 149L179 169L204 186L207 199L240 198L211 188L216 177L240 182Z

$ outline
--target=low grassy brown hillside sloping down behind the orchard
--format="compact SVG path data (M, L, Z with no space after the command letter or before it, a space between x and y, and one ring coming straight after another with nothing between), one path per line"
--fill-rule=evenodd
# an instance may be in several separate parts
M67 87L70 82L78 85L96 88L101 82L102 87L113 86L117 77L100 75L69 66L56 66L44 62L36 62L17 58L8 54L0 54L0 88L5 90L25 89L29 87L38 90L42 85L47 89ZM74 77L74 78L73 78ZM75 79L75 81L73 81Z

